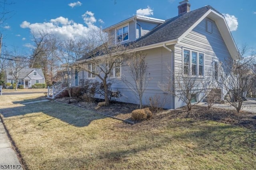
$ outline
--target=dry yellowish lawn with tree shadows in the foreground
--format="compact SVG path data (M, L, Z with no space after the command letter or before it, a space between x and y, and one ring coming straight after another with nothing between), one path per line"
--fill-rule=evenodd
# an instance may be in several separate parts
M27 169L256 169L253 128L198 112L129 125L54 101L14 103L0 113Z

